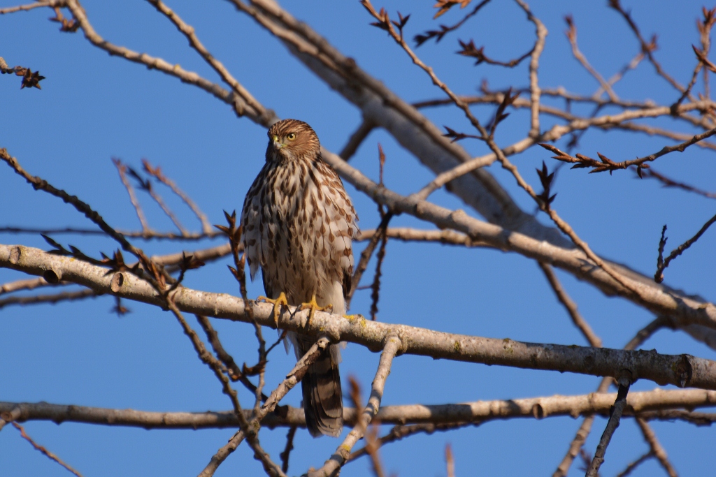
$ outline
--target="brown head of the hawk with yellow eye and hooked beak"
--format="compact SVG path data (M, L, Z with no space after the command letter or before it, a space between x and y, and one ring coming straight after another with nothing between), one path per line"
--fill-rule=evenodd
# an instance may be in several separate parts
M303 121L284 119L269 128L267 161L314 160L319 157L320 152L321 144L316 132Z

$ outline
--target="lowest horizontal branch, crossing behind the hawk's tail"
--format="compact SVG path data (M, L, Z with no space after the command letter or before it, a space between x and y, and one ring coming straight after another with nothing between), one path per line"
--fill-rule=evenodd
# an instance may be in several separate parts
M609 415L616 393L584 395L553 395L538 398L484 400L455 404L388 405L375 416L382 424L456 424L487 423L510 418L542 419L580 415ZM716 391L677 389L629 393L624 415L638 415L647 420L684 420L703 425L710 423L711 414L690 413L684 409L716 406ZM244 409L247 421L253 411ZM344 421L356 422L355 408L344 408ZM7 421L52 421L95 424L100 426L136 427L145 429L223 429L237 428L233 410L204 413L153 412L133 409L94 408L82 405L52 403L9 403L0 401L0 417ZM306 427L302 408L291 406L266 413L261 426L267 428Z

